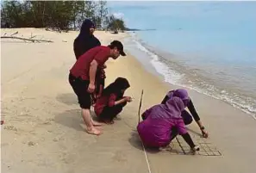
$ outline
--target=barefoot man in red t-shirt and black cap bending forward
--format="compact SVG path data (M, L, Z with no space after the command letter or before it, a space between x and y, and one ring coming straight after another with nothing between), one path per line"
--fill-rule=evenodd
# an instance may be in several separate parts
M84 123L87 133L99 135L101 131L91 119L91 94L95 91L97 68L101 68L109 59L117 59L120 55L126 56L123 52L122 42L114 40L109 46L96 46L79 57L72 66L69 74L69 83L78 96L78 103L82 108Z

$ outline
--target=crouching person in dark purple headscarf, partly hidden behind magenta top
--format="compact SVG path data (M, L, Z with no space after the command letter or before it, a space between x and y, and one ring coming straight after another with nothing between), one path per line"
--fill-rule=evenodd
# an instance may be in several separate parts
M203 127L203 122L200 120L200 117L197 114L196 108L194 107L194 104L193 104L192 100L190 99L187 90L184 90L184 89L170 90L166 94L166 96L163 99L163 101L161 102L161 104L165 104L165 102L167 102L169 99L172 99L173 96L177 96L180 99L184 100L185 108L188 108L190 113L192 114L191 115L190 113L188 113L185 109L182 111L181 116L184 120L184 124L189 125L193 121L193 118L194 118L194 120L196 120L196 122L197 122L197 126L201 130L203 138L208 138L209 133L205 130L205 127ZM177 129L173 128L172 129L172 139L174 139L177 135L178 135Z

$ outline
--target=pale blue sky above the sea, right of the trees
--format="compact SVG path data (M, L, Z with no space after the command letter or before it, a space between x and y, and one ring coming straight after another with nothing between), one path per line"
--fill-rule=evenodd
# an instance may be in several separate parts
M246 19L255 19L256 2L172 2L172 1L108 1L110 13L122 17L128 28L165 28L169 21L161 20L168 16L170 21L195 18L204 20L202 15L207 11L207 17L220 15L222 17L235 18L235 21L245 21L243 14L251 16ZM234 14L234 10L237 13ZM229 13L228 13L229 11ZM233 16L235 15L235 16ZM254 16L254 18L253 18ZM204 17L204 19L203 19ZM169 19L168 18L168 19ZM156 24L157 23L157 24Z

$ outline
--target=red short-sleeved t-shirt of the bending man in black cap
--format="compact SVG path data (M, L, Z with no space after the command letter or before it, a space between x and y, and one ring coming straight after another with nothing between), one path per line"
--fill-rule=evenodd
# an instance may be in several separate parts
M109 59L109 46L96 46L79 57L77 62L72 66L70 72L74 77L81 77L83 80L90 80L89 71L91 61L95 59L98 68L103 66Z

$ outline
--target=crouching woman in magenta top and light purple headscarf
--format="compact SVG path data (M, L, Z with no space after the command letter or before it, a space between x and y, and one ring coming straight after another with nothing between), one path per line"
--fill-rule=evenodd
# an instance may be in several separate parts
M172 128L176 127L178 133L190 145L192 151L199 151L187 132L181 116L185 108L186 99L173 96L165 104L158 104L147 109L142 114L142 121L137 126L140 139L147 147L165 147L172 141Z

